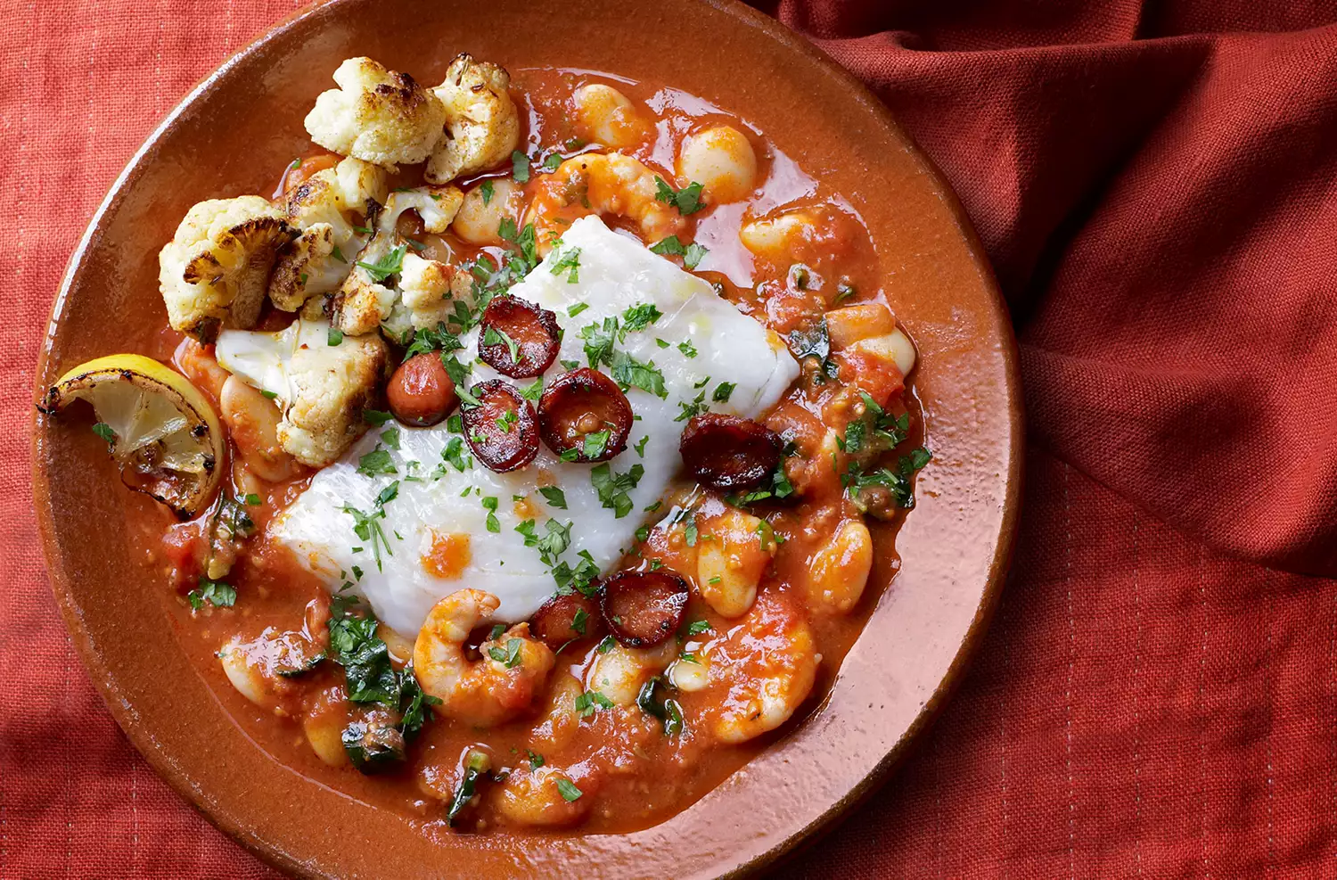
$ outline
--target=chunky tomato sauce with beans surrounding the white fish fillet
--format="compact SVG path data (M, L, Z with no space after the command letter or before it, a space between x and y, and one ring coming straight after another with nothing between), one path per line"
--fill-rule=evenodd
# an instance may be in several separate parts
M583 86L611 86L632 107L630 115L614 120L635 139L620 152L664 181L678 181L675 158L693 134L727 124L750 142L757 159L755 191L741 202L707 206L685 217L679 235L707 247L697 273L721 296L787 337L792 349L793 334L802 334L834 309L885 305L873 243L857 213L745 119L673 88L591 71L512 74L512 96L524 126L521 150L531 166L523 187L525 203L544 186L548 156L558 156L551 160L555 167L571 156L603 151L590 142L574 94ZM287 169L275 169L281 178L275 198L336 160L317 151ZM509 167L497 169L456 185L468 190L511 174ZM401 170L392 186L420 182L420 169L413 167ZM570 206L572 217L580 213L579 202ZM782 215L804 221L783 246L750 249L745 243L742 233L749 223ZM624 217L606 215L606 221L631 234L640 231ZM505 253L500 246L468 245L452 233L427 235L412 214L404 215L401 233L422 243L422 257L443 262L460 263L480 254L500 259ZM838 325L840 333L857 337L865 318L872 325L893 321L889 313L878 317L874 312L865 310L844 324L833 320L830 336ZM291 316L274 312L266 316L266 326L274 329L287 320ZM826 326L822 324L824 332ZM219 377L210 374L210 349L178 346L179 341L179 334L164 332L159 353L164 358L175 353L178 369L217 404ZM643 539L623 560L626 568L679 571L691 586L685 626L667 643L675 665L655 670L664 678L660 685L647 690L640 683L639 705L591 703L587 691L618 686L616 674L600 671L604 667L599 665L614 662L607 657L620 657L620 649L610 650L610 639L595 622L584 638L558 653L528 711L489 728L436 717L408 744L406 760L384 773L364 774L344 753L342 732L350 720L365 716L365 706L346 699L340 665L320 662L329 653L329 592L291 551L265 538L274 516L306 488L309 469L267 483L247 471L245 456L233 447L229 492L242 502L253 535L226 576L237 591L231 607L194 607L190 600L205 574L217 508L195 522L175 523L163 508L136 499L130 504L130 532L162 571L163 602L199 674L237 724L278 761L352 797L404 812L428 835L646 828L693 804L818 710L888 579L886 567L880 564L862 587L865 563L874 552L870 544L860 543L866 535L860 532L865 516L886 520L874 530L876 555L890 559L894 571L894 530L902 518L894 498L888 500L894 489L869 484L857 504L846 483L853 479L857 485L858 475L868 473L874 460L841 443L849 445L849 427L860 423L869 431L890 425L898 452L920 445L924 437L913 396L876 348L816 340L801 362L801 377L766 419L789 444L785 475L794 495L781 502L731 504L738 499L725 492L681 484L650 516ZM870 408L884 413L881 421L870 417ZM898 429L902 415L908 417ZM885 455L889 451L880 455L894 469L896 460ZM857 463L853 471L850 461ZM842 535L848 538L844 544ZM461 546L459 536L443 535L425 564L459 570L467 554L468 546ZM753 571L759 574L753 576ZM726 617L717 610L734 606L743 611ZM381 635L392 661L402 667L412 643L385 627ZM485 637L485 631L476 633L469 650ZM263 673L263 707L247 698L251 694L239 693L225 673L219 653L230 650L243 653L251 667ZM767 702L775 699L775 694L766 694L769 681L778 682L781 703L793 703L783 706L787 721L773 729L766 729L775 711ZM485 752L489 766L477 780L477 802L463 809L452 828L447 809L465 777L471 750ZM562 788L560 780L568 785ZM571 790L578 790L575 800Z

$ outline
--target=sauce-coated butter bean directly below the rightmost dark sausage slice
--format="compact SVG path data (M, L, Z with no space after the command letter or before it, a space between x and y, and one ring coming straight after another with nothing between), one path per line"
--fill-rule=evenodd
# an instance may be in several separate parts
M723 508L718 516L698 515L697 528L709 535L697 544L701 598L726 618L746 614L775 555L775 542L763 546L758 532L762 520L734 507Z

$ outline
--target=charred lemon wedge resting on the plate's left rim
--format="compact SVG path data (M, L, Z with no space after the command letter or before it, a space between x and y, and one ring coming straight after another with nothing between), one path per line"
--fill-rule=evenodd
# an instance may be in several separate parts
M98 357L60 377L37 408L56 415L87 400L126 485L182 519L203 510L222 476L223 431L203 395L143 354Z

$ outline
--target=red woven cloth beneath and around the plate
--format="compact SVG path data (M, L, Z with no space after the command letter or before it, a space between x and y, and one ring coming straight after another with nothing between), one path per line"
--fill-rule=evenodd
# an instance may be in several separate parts
M1337 873L1337 5L766 4L960 193L1021 340L1013 576L809 876ZM108 717L41 570L32 366L134 148L282 0L0 3L0 877L258 877ZM202 25L203 23L203 25Z

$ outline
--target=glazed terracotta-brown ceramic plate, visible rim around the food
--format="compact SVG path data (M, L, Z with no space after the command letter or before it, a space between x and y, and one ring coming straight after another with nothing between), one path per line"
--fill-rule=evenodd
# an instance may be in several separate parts
M96 439L39 416L35 498L56 598L135 746L214 822L289 871L755 871L873 790L945 699L995 606L1019 493L1015 345L980 243L877 99L802 39L730 0L336 0L310 9L202 83L112 187L56 300L37 388L86 358L151 349L164 324L154 254L197 199L267 191L273 170L306 151L302 118L340 60L370 55L436 82L461 49L706 98L798 156L868 223L892 306L920 349L916 392L935 460L896 547L886 535L878 544L874 578L890 584L822 707L648 831L443 844L289 769L243 733L154 599L162 575L127 548L116 524L128 493Z

